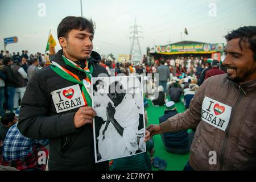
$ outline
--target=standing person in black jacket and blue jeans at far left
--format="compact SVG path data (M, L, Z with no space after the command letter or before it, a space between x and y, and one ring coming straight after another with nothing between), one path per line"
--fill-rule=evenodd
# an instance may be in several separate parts
M18 84L18 81L14 77L13 70L11 69L11 65L13 65L13 60L10 57L5 57L3 59L3 68L2 72L7 76L5 81L6 91L7 91L7 109L9 111L13 111L14 106L14 94L15 87Z

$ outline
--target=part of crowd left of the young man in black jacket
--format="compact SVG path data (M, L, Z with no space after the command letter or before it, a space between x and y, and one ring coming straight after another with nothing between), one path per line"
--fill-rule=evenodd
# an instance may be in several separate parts
M0 53L0 163L7 167L1 169L44 170L46 164L38 165L38 152L44 151L48 156L48 140L24 137L16 122L27 82L45 66L48 55L28 56L28 51L22 51L22 55L3 53Z

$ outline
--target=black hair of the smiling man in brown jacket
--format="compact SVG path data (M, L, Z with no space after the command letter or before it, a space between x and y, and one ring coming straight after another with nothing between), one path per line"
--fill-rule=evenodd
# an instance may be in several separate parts
M227 41L240 38L239 47L242 50L242 41L249 43L249 48L253 51L253 59L256 61L256 26L240 27L237 30L233 30L225 36Z

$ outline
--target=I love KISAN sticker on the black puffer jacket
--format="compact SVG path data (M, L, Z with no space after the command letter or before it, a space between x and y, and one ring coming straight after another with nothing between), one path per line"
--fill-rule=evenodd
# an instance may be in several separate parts
M51 92L51 94L57 113L85 105L84 99L82 98L82 92L78 84L55 90Z

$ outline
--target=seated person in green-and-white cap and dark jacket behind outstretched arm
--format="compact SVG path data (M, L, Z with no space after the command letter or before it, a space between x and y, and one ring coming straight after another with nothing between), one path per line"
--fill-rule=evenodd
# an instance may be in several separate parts
M178 114L178 112L175 107L175 102L167 102L164 115L159 118L159 124L176 114ZM193 140L193 131L189 134L187 130L168 132L161 134L161 138L167 152L171 152L173 154L187 154Z

